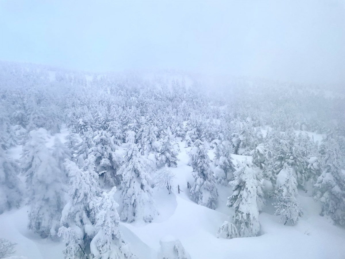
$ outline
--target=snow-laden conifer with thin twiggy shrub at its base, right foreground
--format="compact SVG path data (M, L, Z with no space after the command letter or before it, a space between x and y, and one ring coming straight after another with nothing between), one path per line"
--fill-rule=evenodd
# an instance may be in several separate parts
M284 225L296 225L298 217L302 215L300 203L297 200L297 181L293 175L293 169L286 163L277 175L277 188L273 203L276 208L275 215L280 215L280 221Z

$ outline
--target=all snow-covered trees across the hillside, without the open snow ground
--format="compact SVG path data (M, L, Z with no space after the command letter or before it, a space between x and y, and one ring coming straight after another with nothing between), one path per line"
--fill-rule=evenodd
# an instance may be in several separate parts
M303 213L298 188L345 224L345 109L338 96L249 78L209 93L199 79L187 87L169 72L144 80L1 63L0 75L0 213L28 202L29 229L65 240L66 258L134 257L119 222L149 223L158 215L153 188L170 193L178 143L190 157L191 200L216 209L217 184L233 189L227 205L235 213L219 236L256 236L267 198L283 224L296 224ZM63 124L66 142L50 145ZM325 137L318 143L302 130ZM19 160L10 156L16 145ZM235 166L231 154L248 160Z

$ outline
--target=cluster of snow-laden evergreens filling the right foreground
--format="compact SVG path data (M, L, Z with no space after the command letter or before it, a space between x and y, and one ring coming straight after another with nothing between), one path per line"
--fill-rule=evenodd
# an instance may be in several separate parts
M220 227L219 236L256 236L260 229L258 214L266 198L274 200L275 214L284 225L295 225L303 214L297 188L321 202L322 215L344 225L344 153L338 137L328 133L318 143L293 128L281 132L274 127L257 140L262 143L250 152L252 162L239 163L230 181L234 192L227 205L235 209L235 214L233 223L225 222Z

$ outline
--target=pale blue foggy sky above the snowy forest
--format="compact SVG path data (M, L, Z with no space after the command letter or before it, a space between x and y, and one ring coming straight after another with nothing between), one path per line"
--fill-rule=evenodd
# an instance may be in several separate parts
M343 1L1 1L0 59L345 81Z

